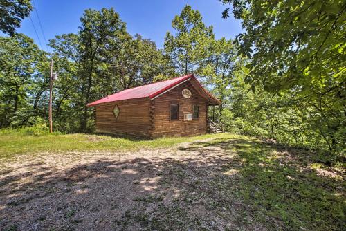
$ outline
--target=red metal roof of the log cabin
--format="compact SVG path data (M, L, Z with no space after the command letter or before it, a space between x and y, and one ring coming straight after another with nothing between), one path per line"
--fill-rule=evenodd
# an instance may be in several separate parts
M144 86L137 86L132 89L126 89L124 91L120 91L118 93L115 93L113 95L109 95L105 98L102 98L100 100L96 100L95 102L91 102L90 104L87 104L86 106L92 107L96 104L102 104L104 102L114 102L118 100L129 100L129 99L136 99L136 98L154 98L157 95L160 95L161 93L164 93L165 91L171 89L172 87L176 86L177 84L184 82L185 80L194 79L198 82L199 86L201 84L199 81L194 77L194 74L184 75L181 77L175 77L170 80L165 80L161 82L156 82L153 84L147 84ZM212 96L206 89L201 86L203 91L208 95L209 98L212 98L212 100L217 100L214 96Z

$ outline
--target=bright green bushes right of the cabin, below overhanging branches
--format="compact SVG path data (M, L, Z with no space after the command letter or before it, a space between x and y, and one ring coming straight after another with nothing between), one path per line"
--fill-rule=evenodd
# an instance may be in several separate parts
M226 109L232 111L233 118L227 122L223 118L225 109L221 113L221 121L228 124L228 131L272 138L286 145L325 151L329 149L325 138L314 128L314 118L307 113L307 110L313 108L303 106L288 93L273 96L260 88L255 93L248 91L248 85L244 83L245 73L235 73L232 82L231 100ZM339 140L340 146L334 153L341 154L343 137L335 138Z

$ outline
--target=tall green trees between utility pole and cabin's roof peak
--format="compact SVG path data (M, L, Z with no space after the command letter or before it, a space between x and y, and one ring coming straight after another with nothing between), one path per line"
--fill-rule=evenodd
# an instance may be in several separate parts
M156 77L172 76L170 60L150 39L127 33L117 12L86 10L77 34L51 40L55 68L55 124L60 131L93 131L86 104Z

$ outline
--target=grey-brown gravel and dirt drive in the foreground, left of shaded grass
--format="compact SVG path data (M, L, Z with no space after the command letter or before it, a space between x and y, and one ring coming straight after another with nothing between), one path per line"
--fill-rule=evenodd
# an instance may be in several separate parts
M236 193L242 162L208 141L19 156L1 164L0 230L282 229L275 218L251 216Z

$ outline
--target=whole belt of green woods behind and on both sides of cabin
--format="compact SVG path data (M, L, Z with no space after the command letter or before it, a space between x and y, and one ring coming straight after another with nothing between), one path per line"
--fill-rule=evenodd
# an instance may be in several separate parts
M113 8L86 10L78 33L50 41L54 71L60 75L53 88L53 129L93 131L93 110L87 103L174 73L194 72L222 100L217 118L226 130L343 156L345 46L340 20L345 4L224 3L233 3L235 17L243 20L245 32L237 39L215 39L199 11L185 6L172 21L174 34L167 33L164 50L150 39L129 35ZM21 34L0 38L0 127L30 127L47 120L48 77L47 54L32 39Z

